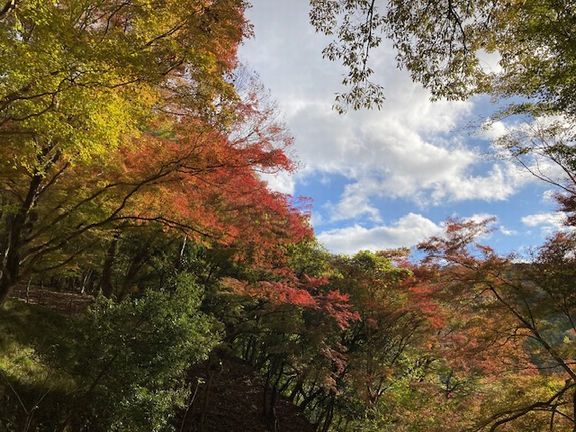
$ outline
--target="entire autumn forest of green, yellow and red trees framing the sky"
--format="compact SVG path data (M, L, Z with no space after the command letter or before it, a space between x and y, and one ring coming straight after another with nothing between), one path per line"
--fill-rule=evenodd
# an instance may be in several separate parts
M247 7L0 2L0 431L576 431L576 4L309 5L343 115L384 103L391 40L433 97L531 121L498 151L565 227L522 259L489 219L418 258L323 248L262 180L296 164Z

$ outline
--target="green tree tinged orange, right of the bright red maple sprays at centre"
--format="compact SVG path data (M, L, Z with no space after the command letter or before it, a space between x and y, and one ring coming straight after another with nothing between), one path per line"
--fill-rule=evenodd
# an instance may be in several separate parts
M350 362L350 387L368 410L401 374L403 355L419 333L422 317L407 304L402 282L411 274L407 251L361 251L334 258L335 281L360 314L343 339Z

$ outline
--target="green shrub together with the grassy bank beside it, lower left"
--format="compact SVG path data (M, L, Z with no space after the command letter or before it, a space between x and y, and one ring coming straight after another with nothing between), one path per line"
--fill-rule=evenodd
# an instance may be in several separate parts
M189 394L188 368L221 337L199 311L202 298L194 277L181 274L139 298L99 298L78 317L9 304L0 317L5 426L172 430Z

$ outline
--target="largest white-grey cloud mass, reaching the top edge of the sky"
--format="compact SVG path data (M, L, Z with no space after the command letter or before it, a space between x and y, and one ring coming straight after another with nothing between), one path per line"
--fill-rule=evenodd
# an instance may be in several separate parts
M331 206L331 220L380 221L372 200L382 196L421 206L494 201L509 198L523 184L511 164L488 163L464 145L465 138L446 137L469 118L473 103L431 102L428 91L396 68L389 45L372 55L387 98L382 109L346 115L331 110L343 70L322 59L327 40L308 24L308 7L304 0L254 1L256 39L240 55L279 101L303 166L298 178L348 179Z

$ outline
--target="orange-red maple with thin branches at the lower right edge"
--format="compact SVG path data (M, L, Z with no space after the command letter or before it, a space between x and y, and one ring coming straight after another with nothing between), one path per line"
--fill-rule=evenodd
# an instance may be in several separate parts
M438 341L448 348L447 358L463 355L468 367L492 376L488 385L504 384L506 392L516 386L522 395L498 406L487 403L474 430L504 430L509 424L573 430L576 309L568 286L574 236L560 234L532 263L514 264L512 257L477 243L485 228L486 222L452 221L445 236L421 245L439 271L436 299L448 296L444 304L452 309L449 337ZM523 379L510 387L504 373Z

